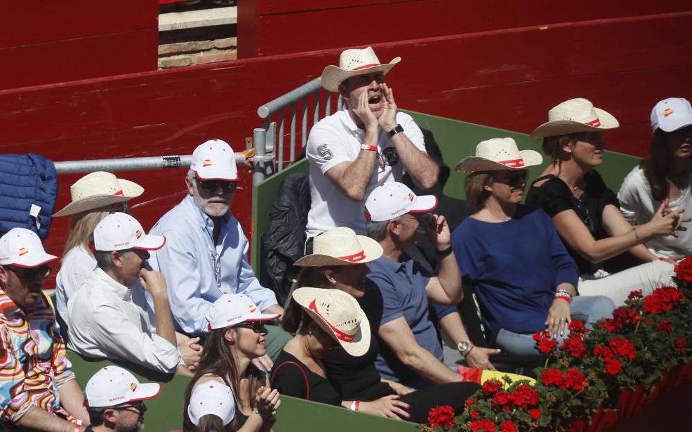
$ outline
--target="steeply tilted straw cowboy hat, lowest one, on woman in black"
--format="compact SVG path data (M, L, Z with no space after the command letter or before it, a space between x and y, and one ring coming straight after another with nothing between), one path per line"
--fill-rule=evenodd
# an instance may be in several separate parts
M293 299L322 330L354 357L370 349L370 322L350 294L339 289L298 288Z

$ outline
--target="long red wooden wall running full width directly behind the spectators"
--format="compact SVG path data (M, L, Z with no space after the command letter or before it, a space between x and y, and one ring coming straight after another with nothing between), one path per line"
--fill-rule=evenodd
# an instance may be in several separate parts
M403 57L387 75L402 108L531 132L550 107L583 96L620 120L622 127L606 136L609 149L639 156L647 152L654 103L692 98L692 12L373 46L383 60ZM244 138L261 124L257 107L318 76L338 61L339 52L266 55L0 91L0 152L32 151L56 161L189 154L208 138L242 150ZM475 143L460 136L459 145ZM183 197L184 172L118 173L146 188L133 208L145 228ZM59 208L78 177L61 177ZM233 212L246 233L250 195L250 176L244 174ZM49 251L60 253L66 222L55 219Z

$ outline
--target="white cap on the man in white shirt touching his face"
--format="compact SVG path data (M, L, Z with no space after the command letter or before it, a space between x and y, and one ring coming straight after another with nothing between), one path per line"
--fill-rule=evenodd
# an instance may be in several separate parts
M93 231L95 251L123 251L125 249L156 251L165 243L166 237L146 234L137 219L127 213L111 213L104 217Z

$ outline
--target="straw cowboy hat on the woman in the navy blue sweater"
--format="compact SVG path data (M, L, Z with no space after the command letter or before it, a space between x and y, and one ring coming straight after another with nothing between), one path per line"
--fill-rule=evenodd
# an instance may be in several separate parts
M471 174L476 171L523 170L543 163L543 156L534 150L519 150L512 138L491 138L476 145L475 156L462 159L456 171Z

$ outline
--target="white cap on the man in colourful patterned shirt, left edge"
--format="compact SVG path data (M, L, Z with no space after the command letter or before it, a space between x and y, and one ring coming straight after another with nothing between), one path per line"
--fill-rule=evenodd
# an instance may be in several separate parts
M39 267L56 258L46 253L39 236L26 228L12 228L0 237L0 265Z

